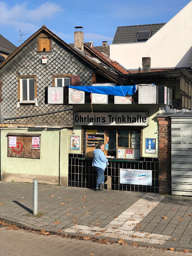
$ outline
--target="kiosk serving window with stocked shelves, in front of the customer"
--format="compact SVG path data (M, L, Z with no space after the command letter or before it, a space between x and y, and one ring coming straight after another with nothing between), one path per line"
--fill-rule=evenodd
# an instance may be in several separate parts
M86 157L93 157L98 142L104 142L108 158L139 159L141 152L140 128L86 130Z

